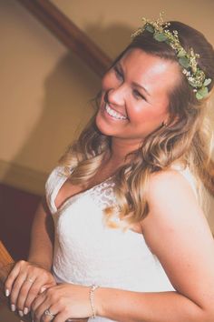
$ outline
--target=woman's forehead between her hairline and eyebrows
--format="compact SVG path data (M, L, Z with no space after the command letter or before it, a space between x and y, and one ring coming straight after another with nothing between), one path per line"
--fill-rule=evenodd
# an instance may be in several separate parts
M119 61L127 80L145 87L151 96L167 95L180 79L180 65L139 48L128 50Z

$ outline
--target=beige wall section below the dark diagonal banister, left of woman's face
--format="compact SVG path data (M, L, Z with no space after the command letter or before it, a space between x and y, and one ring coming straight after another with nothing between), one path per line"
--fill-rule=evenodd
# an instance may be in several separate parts
M16 3L0 1L0 159L49 172L100 79Z

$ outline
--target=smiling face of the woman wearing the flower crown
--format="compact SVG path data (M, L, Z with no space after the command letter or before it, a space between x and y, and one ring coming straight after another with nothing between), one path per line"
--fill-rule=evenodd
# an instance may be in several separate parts
M102 134L130 138L137 149L143 138L167 124L169 92L178 82L178 69L178 64L141 49L123 55L102 78L102 100L96 116Z

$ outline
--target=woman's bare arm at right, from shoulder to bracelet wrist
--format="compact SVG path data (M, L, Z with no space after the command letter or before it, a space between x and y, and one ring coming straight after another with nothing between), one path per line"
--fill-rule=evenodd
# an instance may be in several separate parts
M130 322L214 320L214 243L189 183L169 172L151 180L143 234L175 292L95 291L97 315Z

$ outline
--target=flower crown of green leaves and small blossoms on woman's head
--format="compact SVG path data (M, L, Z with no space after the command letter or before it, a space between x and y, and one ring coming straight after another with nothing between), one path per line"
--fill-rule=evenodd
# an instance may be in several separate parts
M174 49L178 62L182 66L182 73L186 75L188 83L193 87L193 91L196 94L198 100L206 97L209 93L207 86L211 83L211 78L206 78L205 73L199 68L197 58L199 54L195 54L193 48L190 48L190 52L187 52L182 45L180 45L179 35L177 30L173 30L172 33L168 29L170 23L163 21L163 13L160 13L160 18L156 21L151 21L146 18L142 18L143 25L137 29L131 37L134 38L137 35L141 35L144 30L153 34L153 38L159 42L165 42Z

